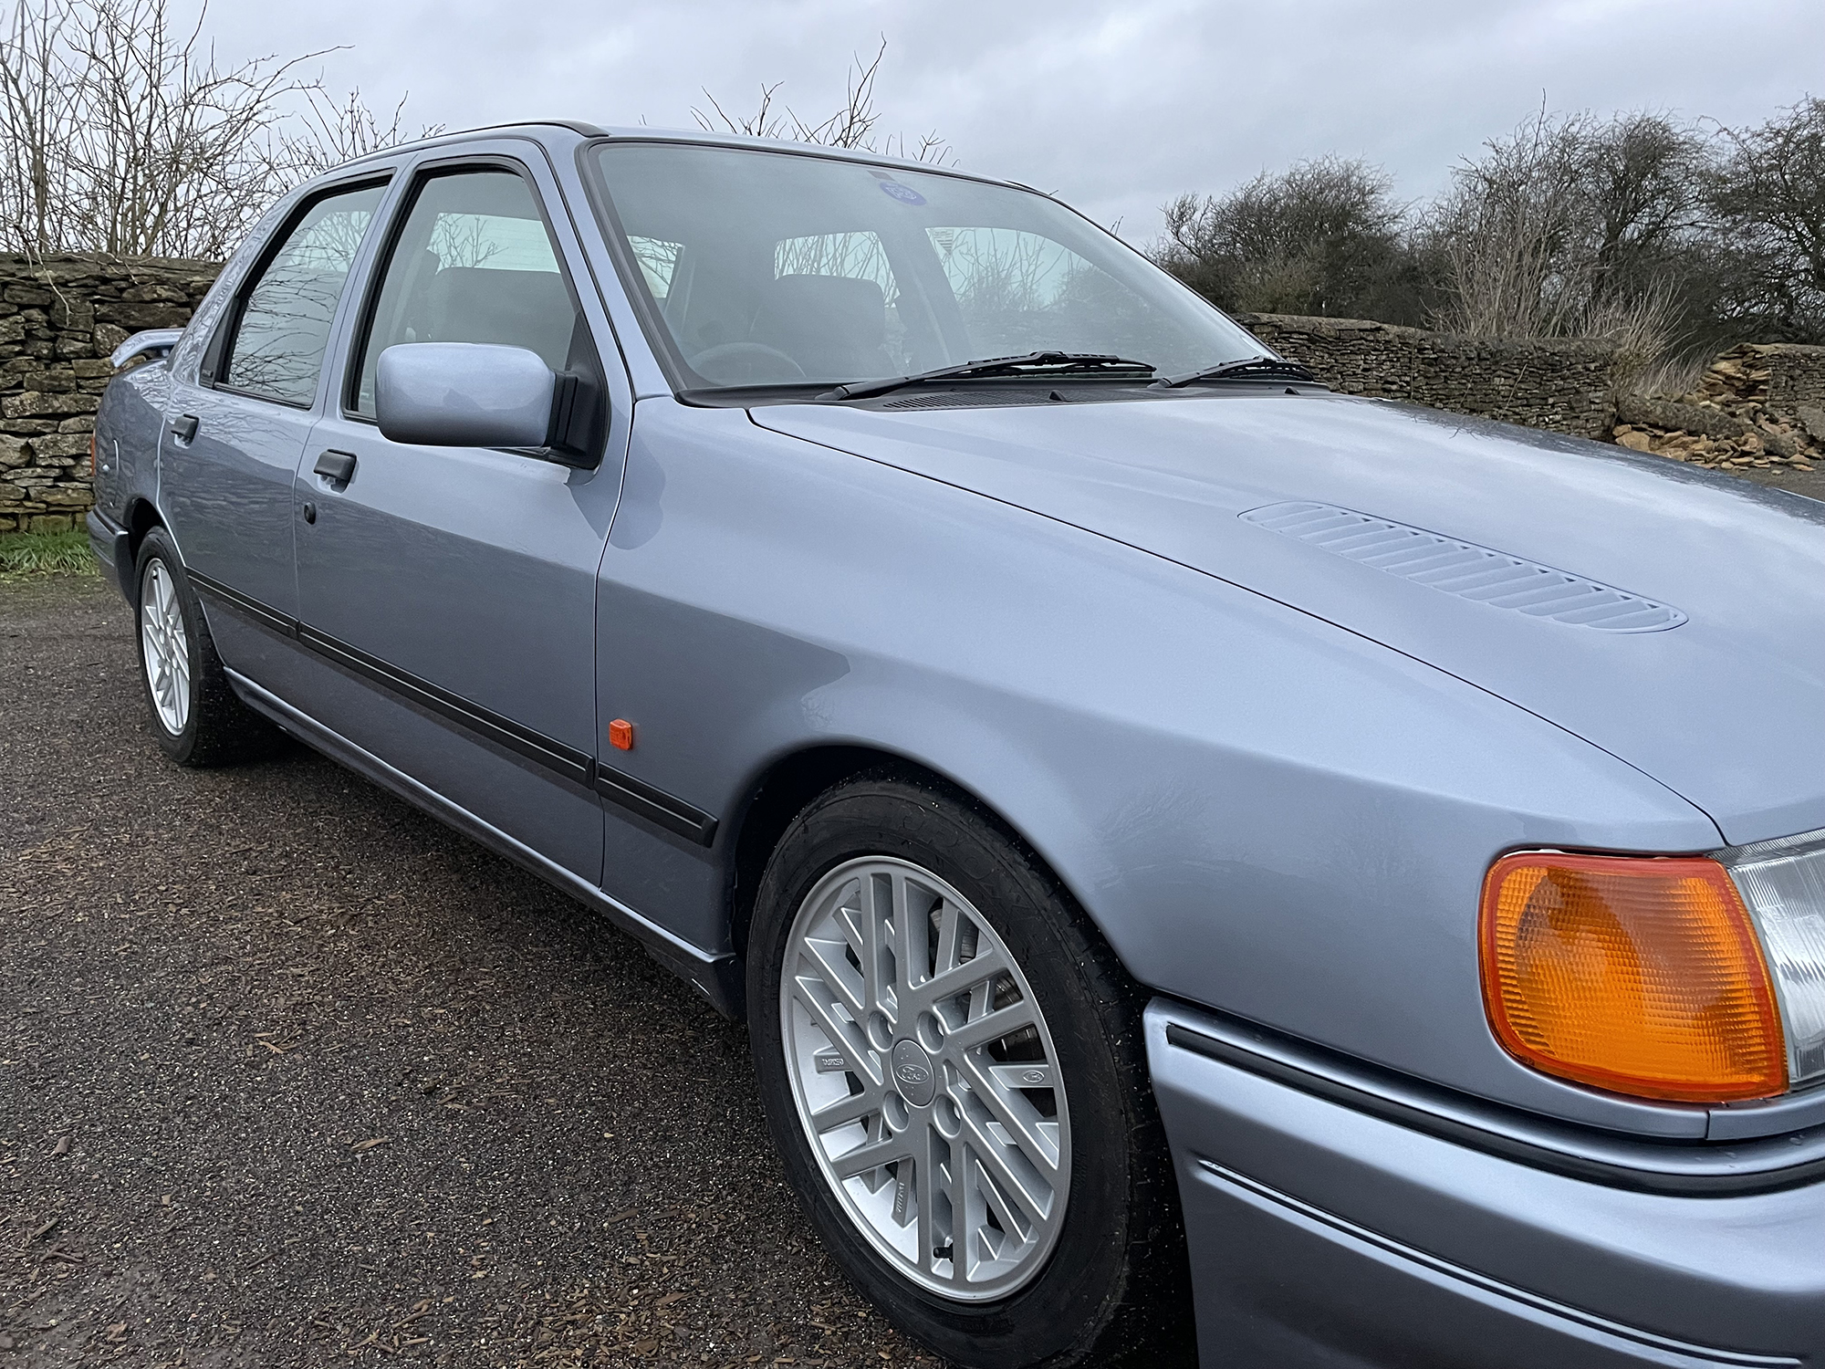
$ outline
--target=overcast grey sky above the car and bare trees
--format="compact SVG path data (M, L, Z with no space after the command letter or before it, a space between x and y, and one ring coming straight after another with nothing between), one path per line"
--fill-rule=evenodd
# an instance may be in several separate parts
M881 131L936 131L1142 243L1179 192L1327 152L1429 195L1542 95L1725 124L1825 95L1825 0L215 0L208 29L224 58L347 44L328 86L451 128L679 128L706 88L752 110L763 80L821 119L885 37Z

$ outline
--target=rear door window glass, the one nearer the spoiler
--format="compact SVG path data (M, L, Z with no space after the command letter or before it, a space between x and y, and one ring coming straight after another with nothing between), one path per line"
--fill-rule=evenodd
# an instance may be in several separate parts
M330 321L383 184L325 195L292 225L243 296L221 383L308 407Z

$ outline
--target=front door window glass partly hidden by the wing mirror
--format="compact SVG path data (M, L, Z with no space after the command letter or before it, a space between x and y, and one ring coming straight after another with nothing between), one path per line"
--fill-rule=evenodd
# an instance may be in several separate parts
M350 409L372 418L380 354L422 341L526 347L553 371L595 372L557 246L516 173L454 172L418 186L380 283Z

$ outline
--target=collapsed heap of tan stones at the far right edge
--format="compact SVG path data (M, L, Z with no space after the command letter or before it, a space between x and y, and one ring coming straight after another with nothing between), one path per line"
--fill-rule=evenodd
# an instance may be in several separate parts
M1825 347L1732 347L1690 394L1624 394L1613 436L1624 447L1714 471L1792 467L1825 458Z

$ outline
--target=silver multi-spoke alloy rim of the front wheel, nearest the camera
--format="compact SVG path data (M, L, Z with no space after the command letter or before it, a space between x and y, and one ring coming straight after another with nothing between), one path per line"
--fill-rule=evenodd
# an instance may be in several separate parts
M792 1099L858 1230L945 1298L1027 1283L1064 1225L1071 1121L1002 938L933 873L867 856L807 894L783 969Z

